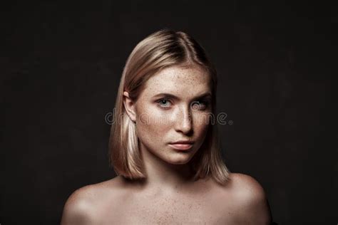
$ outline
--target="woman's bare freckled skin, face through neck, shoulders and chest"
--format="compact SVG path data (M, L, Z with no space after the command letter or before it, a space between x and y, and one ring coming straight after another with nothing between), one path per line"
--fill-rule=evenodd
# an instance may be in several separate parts
M188 162L205 140L208 122L201 121L211 112L211 99L196 97L211 93L210 85L210 76L197 66L170 67L145 83L136 102L123 93L147 178L130 182L118 176L76 190L61 224L270 224L264 189L252 177L230 173L222 186L193 180ZM193 147L178 151L168 145L178 140L193 140Z

